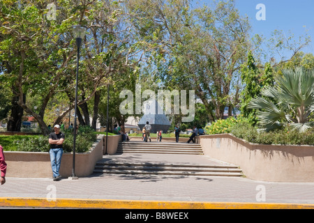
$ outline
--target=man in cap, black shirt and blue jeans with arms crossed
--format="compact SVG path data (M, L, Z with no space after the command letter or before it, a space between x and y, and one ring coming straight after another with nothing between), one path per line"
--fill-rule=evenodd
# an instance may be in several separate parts
M54 132L49 134L49 144L50 144L50 162L52 167L53 180L61 180L61 175L59 174L61 157L63 154L63 141L65 136L60 132L60 125L54 125Z

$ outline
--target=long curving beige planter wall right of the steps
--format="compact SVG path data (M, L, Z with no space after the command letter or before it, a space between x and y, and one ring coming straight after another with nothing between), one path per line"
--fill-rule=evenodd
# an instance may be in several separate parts
M247 178L314 182L314 146L251 144L231 134L197 137L205 155L237 164Z

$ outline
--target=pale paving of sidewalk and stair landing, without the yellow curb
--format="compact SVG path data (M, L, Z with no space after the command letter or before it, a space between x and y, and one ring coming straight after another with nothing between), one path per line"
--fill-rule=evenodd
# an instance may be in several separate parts
M104 155L103 158L110 162L224 163L206 155L124 153ZM7 177L0 188L0 197L6 199L3 202L8 202L8 198L24 198L314 204L314 183L274 183L244 177L92 174L77 180L63 178L60 181Z

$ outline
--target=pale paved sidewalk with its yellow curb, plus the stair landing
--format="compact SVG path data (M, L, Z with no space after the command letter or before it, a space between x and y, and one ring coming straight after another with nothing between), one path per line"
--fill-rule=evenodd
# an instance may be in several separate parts
M224 164L205 155L104 155L110 162ZM244 173L245 174L245 173ZM238 177L93 174L63 178L6 178L0 206L57 208L314 208L314 183L271 183ZM50 201L55 200L55 201ZM291 204L294 204L291 206ZM298 204L299 206L296 206ZM300 206L301 205L301 206Z

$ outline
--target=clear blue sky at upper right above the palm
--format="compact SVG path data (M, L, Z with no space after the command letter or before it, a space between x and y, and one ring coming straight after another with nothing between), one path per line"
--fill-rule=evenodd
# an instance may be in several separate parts
M248 16L252 26L252 36L260 34L264 38L271 38L271 33L278 29L287 36L291 31L295 40L304 36L306 30L311 41L301 51L314 54L314 0L234 0L240 15ZM210 3L211 0L200 0L200 3ZM262 3L265 6L265 20L257 20L256 14ZM304 27L305 26L305 27ZM287 55L289 53L287 52Z

